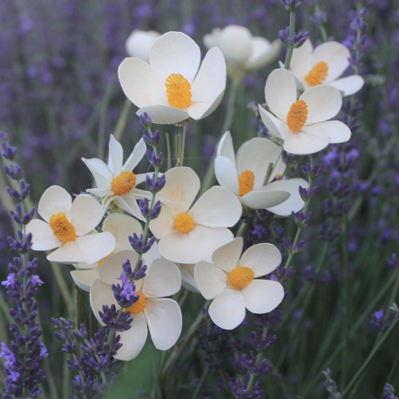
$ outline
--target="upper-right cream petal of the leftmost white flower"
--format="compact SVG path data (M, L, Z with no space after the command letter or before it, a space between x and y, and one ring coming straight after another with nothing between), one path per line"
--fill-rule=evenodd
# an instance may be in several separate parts
M77 235L85 235L94 230L102 218L101 204L93 197L81 194L72 202L70 220Z

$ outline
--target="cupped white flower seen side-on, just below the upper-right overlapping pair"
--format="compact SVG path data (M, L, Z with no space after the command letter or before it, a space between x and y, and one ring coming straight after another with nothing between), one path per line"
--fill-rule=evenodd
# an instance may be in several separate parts
M271 173L265 182L270 167ZM273 182L284 169L281 148L269 139L255 137L246 141L235 157L231 135L227 131L217 147L215 175L219 185L233 192L250 208L267 209L280 216L303 208L305 203L299 195L299 187L308 188L305 180Z

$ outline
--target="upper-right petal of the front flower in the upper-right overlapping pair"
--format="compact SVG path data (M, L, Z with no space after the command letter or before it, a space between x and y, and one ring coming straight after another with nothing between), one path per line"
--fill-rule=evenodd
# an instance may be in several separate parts
M311 87L299 99L308 106L305 126L334 118L342 107L341 93L335 87L325 84Z

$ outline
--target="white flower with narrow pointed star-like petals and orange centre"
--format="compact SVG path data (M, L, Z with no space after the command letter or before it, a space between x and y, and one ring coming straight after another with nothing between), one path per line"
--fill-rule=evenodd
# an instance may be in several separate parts
M108 166L97 158L82 161L93 174L96 189L88 189L88 193L101 198L102 211L106 212L113 202L119 208L126 210L138 219L144 220L137 199L148 197L150 193L136 189L136 186L146 181L146 174L135 175L132 171L146 153L147 147L143 139L136 144L132 154L123 164L123 149L113 135L109 139Z

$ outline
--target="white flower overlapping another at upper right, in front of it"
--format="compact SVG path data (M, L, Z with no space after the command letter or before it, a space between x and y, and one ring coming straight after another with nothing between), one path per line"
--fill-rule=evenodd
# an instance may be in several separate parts
M340 121L329 121L341 109L342 96L332 86L311 87L296 98L294 76L286 69L275 69L267 78L265 98L271 112L259 105L263 123L270 133L284 141L291 154L313 154L329 143L343 143L351 131Z

